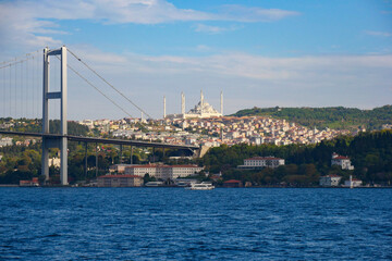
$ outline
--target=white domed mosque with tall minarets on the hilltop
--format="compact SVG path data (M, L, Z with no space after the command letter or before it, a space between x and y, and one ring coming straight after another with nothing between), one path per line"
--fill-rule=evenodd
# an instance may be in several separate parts
M200 101L185 113L185 95L181 92L181 114L170 114L166 115L166 98L163 97L163 119L192 119L192 117L219 117L223 116L223 92L221 91L220 98L220 112L213 109L207 101L204 99L203 90L200 90Z

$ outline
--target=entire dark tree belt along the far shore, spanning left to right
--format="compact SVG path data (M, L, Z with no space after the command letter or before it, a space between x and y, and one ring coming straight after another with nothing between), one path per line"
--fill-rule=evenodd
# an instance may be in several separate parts
M83 144L69 144L69 181L85 181L96 175L95 146L88 146L87 175L85 174L85 148ZM50 158L56 157L58 149L50 150ZM151 151L135 149L133 163L142 161L152 162ZM192 163L191 160L169 161L170 156L187 156L186 151L155 151L155 161L166 163ZM354 171L342 171L331 166L331 154L336 152L348 156L355 166ZM17 184L20 179L29 179L40 175L40 144L24 146L8 146L0 148L3 156L0 162L0 184ZM130 163L131 151L124 150L122 163ZM237 165L244 159L255 156L273 156L285 159L285 165L275 170L264 169L258 171L241 171ZM115 146L100 146L98 153L99 175L108 171L109 166L120 162L119 148ZM392 182L392 130L362 133L358 136L341 136L333 140L324 140L318 145L290 146L248 146L225 145L212 148L203 158L199 164L206 166L210 173L222 172L224 179L241 179L254 185L280 185L281 183L294 186L317 185L319 177L326 174L339 174L344 178L353 174L368 184L388 185ZM50 175L53 183L59 182L59 169L51 167Z

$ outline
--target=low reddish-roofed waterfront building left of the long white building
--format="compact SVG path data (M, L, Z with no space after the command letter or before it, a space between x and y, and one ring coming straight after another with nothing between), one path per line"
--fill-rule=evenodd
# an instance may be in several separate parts
M136 175L103 175L97 178L98 187L140 187L143 177Z

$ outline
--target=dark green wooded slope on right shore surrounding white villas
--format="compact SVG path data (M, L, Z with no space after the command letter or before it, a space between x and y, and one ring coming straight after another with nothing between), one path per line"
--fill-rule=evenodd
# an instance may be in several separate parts
M354 171L331 166L331 156L348 156ZM285 165L275 170L242 171L237 165L252 157L273 156L285 159ZM278 185L282 182L296 186L317 185L326 174L350 174L366 183L392 182L392 130L363 133L356 137L342 136L318 145L248 146L235 145L212 148L200 159L200 164L212 173L222 172L224 179L237 178L259 185Z

